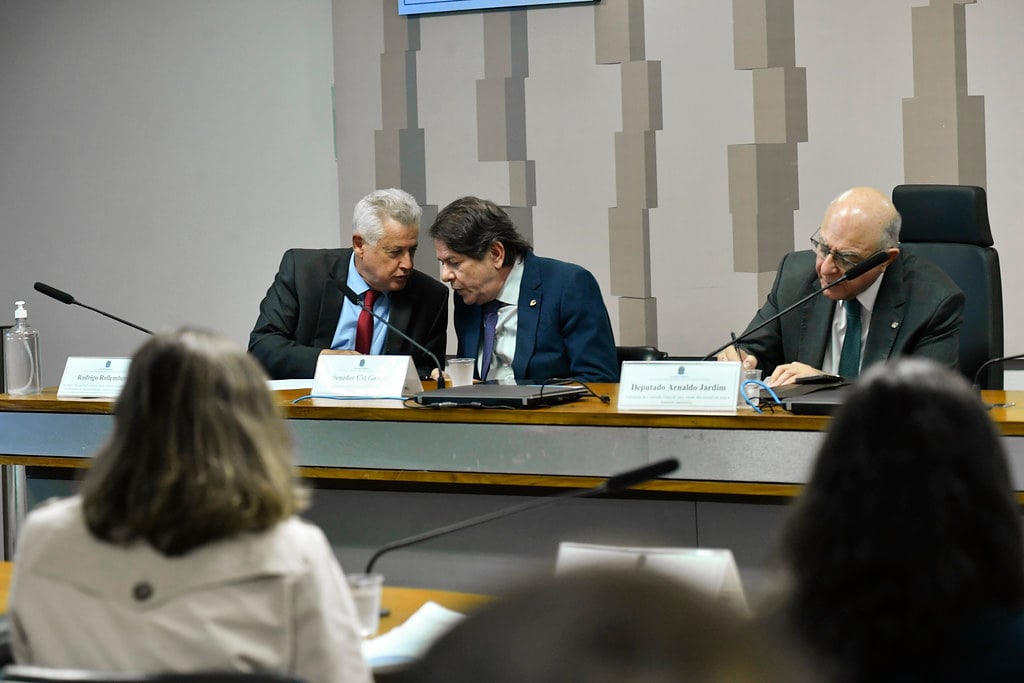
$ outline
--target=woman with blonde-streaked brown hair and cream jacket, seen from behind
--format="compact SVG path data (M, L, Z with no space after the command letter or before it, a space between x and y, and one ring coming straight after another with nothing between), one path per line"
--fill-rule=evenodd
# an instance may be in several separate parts
M133 356L82 494L33 511L8 614L18 664L368 682L331 545L296 515L266 375L199 330Z

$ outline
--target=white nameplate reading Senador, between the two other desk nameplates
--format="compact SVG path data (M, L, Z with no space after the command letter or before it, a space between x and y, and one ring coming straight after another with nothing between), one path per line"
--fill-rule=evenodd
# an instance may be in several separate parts
M314 396L400 398L423 391L408 355L321 353L313 374Z

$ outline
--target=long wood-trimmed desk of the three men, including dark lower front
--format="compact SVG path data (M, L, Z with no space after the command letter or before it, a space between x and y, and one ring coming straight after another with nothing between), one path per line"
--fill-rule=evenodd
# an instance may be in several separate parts
M746 409L734 416L623 413L615 408L617 385L594 388L610 402L435 411L395 400L292 404L301 391L278 397L302 474L326 488L316 494L312 518L325 527L343 566L360 566L388 541L506 505L495 496L591 486L673 457L680 461L676 472L635 494L560 504L545 517L389 555L383 571L408 586L488 593L506 568L550 564L559 540L726 547L744 574L767 568L764 560L784 515L779 502L807 481L827 418ZM986 391L983 398L1017 403L993 410L992 418L1004 435L1015 487L1024 492L1024 392ZM3 487L14 492L3 508L6 558L27 505L25 494L17 495L26 469L12 466L87 466L110 433L111 410L111 401L60 400L53 392L0 394L0 469L14 482Z

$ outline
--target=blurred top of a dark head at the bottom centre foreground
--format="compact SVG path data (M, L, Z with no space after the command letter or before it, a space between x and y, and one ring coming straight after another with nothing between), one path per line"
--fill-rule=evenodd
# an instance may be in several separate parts
M786 644L653 571L584 569L470 614L396 683L804 683Z

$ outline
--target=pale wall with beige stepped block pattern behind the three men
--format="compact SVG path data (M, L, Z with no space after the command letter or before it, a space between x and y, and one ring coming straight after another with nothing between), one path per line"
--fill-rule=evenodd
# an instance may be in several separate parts
M778 260L804 247L835 195L904 181L987 185L991 135L1020 144L1009 118L986 139L985 95L969 90L968 48L1012 46L1019 65L1011 27L1024 26L1021 5L856 4L602 0L407 20L382 0L385 44L403 22L419 25L406 30L419 38L406 49L424 56L399 60L420 70L418 92L413 75L399 81L401 93L418 96L421 112L442 110L446 121L417 129L425 143L411 143L409 158L418 164L424 148L427 170L411 184L434 206L489 196L510 208L538 251L593 270L618 343L702 353L745 324ZM351 16L349 3L335 0L335 13L337 26ZM336 63L366 47L344 29L335 36ZM593 62L580 58L588 48ZM974 69L1010 74L1012 62ZM596 81L594 66L603 76L616 68L612 81ZM538 83L545 78L557 86ZM383 82L391 87L387 76ZM996 85L1005 110L1024 105L1019 83ZM468 100L461 93L473 84ZM392 97L381 100L385 122ZM578 146L555 148L549 141L559 135ZM457 136L476 138L476 159L460 157ZM441 158L432 163L435 148ZM396 159L386 152L378 145L377 178ZM1022 179L1020 161L1007 162L998 169L1005 179ZM507 166L507 178L483 169L494 164ZM343 215L367 188L365 175L340 170ZM993 189L996 247L1010 263L1014 236L999 218L1012 198ZM418 267L434 271L429 253ZM1024 343L1024 323L1008 316L1013 348L1015 339Z

